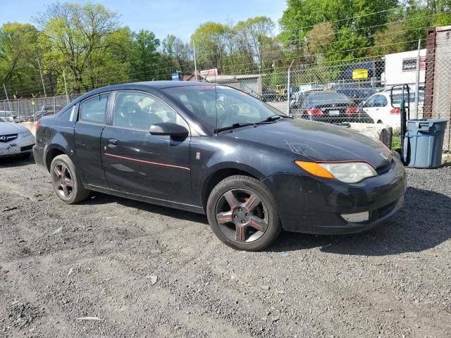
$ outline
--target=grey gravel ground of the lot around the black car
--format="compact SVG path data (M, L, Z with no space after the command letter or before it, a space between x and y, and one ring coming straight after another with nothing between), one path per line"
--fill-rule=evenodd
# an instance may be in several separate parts
M0 336L450 337L451 168L407 171L390 222L247 253L202 215L64 206L32 160L0 161Z

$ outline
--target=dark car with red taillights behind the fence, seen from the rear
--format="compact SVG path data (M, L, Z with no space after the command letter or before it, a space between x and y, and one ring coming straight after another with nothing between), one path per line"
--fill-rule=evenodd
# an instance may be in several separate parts
M326 123L366 122L369 119L345 94L328 90L309 91L293 113Z

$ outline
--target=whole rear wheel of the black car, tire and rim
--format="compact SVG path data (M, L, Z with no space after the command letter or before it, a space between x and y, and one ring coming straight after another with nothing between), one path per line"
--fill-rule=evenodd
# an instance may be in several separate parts
M89 196L83 187L72 160L67 155L58 155L50 165L51 182L54 192L66 204L79 203Z

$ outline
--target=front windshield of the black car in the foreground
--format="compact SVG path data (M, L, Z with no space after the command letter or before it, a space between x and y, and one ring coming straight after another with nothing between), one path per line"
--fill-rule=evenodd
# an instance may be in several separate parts
M226 86L205 84L163 90L183 104L211 132L233 125L259 123L274 115L286 117L254 96Z

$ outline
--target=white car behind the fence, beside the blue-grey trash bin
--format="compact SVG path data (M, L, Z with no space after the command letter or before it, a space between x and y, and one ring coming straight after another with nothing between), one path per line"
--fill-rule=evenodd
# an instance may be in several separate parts
M419 92L419 104L418 104L418 118L423 118L424 107L424 91ZM410 92L410 118L414 118L414 104L415 93ZM394 130L400 130L401 128L401 109L400 103L402 100L402 92L397 90L393 91L393 105L397 108L393 108L390 102L390 91L376 93L370 96L364 103L364 112L373 119L374 123L384 123L390 125ZM409 106L409 100L406 97L407 106Z

